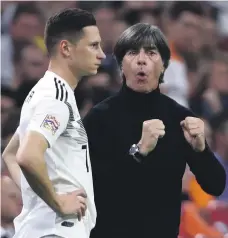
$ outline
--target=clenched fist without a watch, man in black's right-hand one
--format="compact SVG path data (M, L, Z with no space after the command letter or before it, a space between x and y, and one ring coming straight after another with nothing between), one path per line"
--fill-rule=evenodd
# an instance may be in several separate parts
M205 149L204 122L196 117L186 117L180 123L184 137L195 151L202 152Z

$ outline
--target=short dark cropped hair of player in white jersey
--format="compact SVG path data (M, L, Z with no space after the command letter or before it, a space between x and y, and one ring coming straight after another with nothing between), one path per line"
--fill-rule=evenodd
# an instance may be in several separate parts
M49 54L58 42L66 39L73 42L82 36L82 29L86 26L96 25L92 13L79 9L64 9L51 16L45 26L44 39Z

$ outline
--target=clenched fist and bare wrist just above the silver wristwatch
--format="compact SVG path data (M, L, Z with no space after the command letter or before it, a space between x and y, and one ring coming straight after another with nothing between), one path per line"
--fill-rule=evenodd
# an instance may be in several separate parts
M165 126L161 120L152 119L143 122L142 137L138 143L140 153L147 155L157 145L158 139L165 135Z

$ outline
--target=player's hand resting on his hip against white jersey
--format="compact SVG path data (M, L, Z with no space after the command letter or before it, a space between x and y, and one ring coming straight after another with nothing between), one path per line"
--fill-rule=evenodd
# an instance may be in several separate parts
M77 215L78 220L80 221L81 218L85 216L85 211L87 209L86 198L87 195L84 190L57 195L61 208L61 215Z

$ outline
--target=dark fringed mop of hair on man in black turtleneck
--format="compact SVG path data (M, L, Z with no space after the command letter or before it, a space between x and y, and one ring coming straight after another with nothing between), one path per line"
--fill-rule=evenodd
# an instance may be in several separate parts
M131 49L141 49L154 45L161 55L164 68L167 69L170 60L170 49L167 40L161 30L148 23L137 23L126 29L119 37L115 47L114 55L119 66L123 57ZM163 82L161 75L159 82Z

